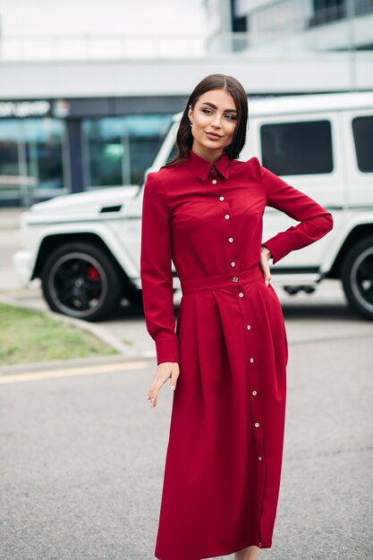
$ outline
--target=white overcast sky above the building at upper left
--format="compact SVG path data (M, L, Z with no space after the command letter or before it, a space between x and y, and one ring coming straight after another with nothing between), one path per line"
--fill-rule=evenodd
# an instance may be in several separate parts
M4 35L206 34L205 0L1 0Z

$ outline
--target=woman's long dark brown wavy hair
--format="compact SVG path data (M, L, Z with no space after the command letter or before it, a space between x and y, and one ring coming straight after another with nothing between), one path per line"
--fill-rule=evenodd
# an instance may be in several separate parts
M242 84L232 76L225 74L210 74L191 92L185 110L182 114L182 120L176 135L176 155L166 163L166 165L181 164L188 159L193 144L193 135L191 133L191 123L188 116L189 106L194 109L198 98L212 89L225 89L234 99L237 115L237 125L234 130L233 140L229 146L225 146L226 155L232 160L239 157L240 152L246 141L246 128L248 120L248 98Z

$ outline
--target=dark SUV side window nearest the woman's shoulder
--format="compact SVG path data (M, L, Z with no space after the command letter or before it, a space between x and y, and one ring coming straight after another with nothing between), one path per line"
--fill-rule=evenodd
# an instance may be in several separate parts
M329 121L263 124L262 162L278 175L326 174L333 171Z

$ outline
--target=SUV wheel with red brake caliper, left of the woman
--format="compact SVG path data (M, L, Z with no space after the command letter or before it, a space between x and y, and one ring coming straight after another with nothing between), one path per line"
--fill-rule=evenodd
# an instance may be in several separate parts
M118 267L104 250L89 242L55 249L40 276L50 309L69 317L97 321L110 315L121 300Z

